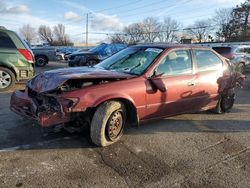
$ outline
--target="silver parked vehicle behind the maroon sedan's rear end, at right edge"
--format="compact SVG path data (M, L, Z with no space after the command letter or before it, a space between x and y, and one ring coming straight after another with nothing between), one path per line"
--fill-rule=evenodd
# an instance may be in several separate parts
M250 46L219 46L213 47L213 50L228 58L241 73L250 64Z

